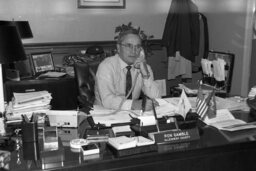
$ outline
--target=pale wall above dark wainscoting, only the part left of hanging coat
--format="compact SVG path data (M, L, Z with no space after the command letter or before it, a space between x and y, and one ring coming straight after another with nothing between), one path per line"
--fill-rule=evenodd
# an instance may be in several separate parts
M78 9L77 0L2 0L0 20L28 20L34 38L24 43L104 41L132 21L161 38L171 0L126 0L125 9Z

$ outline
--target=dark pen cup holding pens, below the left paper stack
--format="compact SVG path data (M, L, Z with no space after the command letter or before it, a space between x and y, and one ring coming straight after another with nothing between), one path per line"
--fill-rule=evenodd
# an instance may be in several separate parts
M22 142L37 142L38 130L37 122L22 122Z

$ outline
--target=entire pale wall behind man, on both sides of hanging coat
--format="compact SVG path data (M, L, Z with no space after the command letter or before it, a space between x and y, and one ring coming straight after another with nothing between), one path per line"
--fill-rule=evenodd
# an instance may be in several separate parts
M210 49L235 54L231 94L247 95L248 4L254 0L193 0L208 19ZM132 21L161 39L171 0L126 0L126 9L78 9L77 0L2 0L1 20L28 20L24 43L113 40L114 28ZM249 50L248 50L249 49Z

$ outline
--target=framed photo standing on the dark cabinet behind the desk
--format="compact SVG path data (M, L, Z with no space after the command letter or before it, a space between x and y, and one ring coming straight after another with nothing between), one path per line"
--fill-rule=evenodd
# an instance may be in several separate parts
M51 52L31 54L31 63L34 75L40 75L42 73L54 70Z

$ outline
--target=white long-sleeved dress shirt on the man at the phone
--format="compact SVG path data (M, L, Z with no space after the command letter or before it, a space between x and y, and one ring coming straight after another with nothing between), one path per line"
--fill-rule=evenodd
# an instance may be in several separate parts
M95 104L109 109L130 110L132 99L138 99L141 91L150 98L160 97L160 91L154 82L153 72L149 65L150 77L143 79L139 69L131 68L132 99L125 98L127 64L119 57L108 57L98 67L95 80ZM135 78L137 75L137 78ZM136 83L135 83L136 82ZM123 102L122 106L120 104Z

